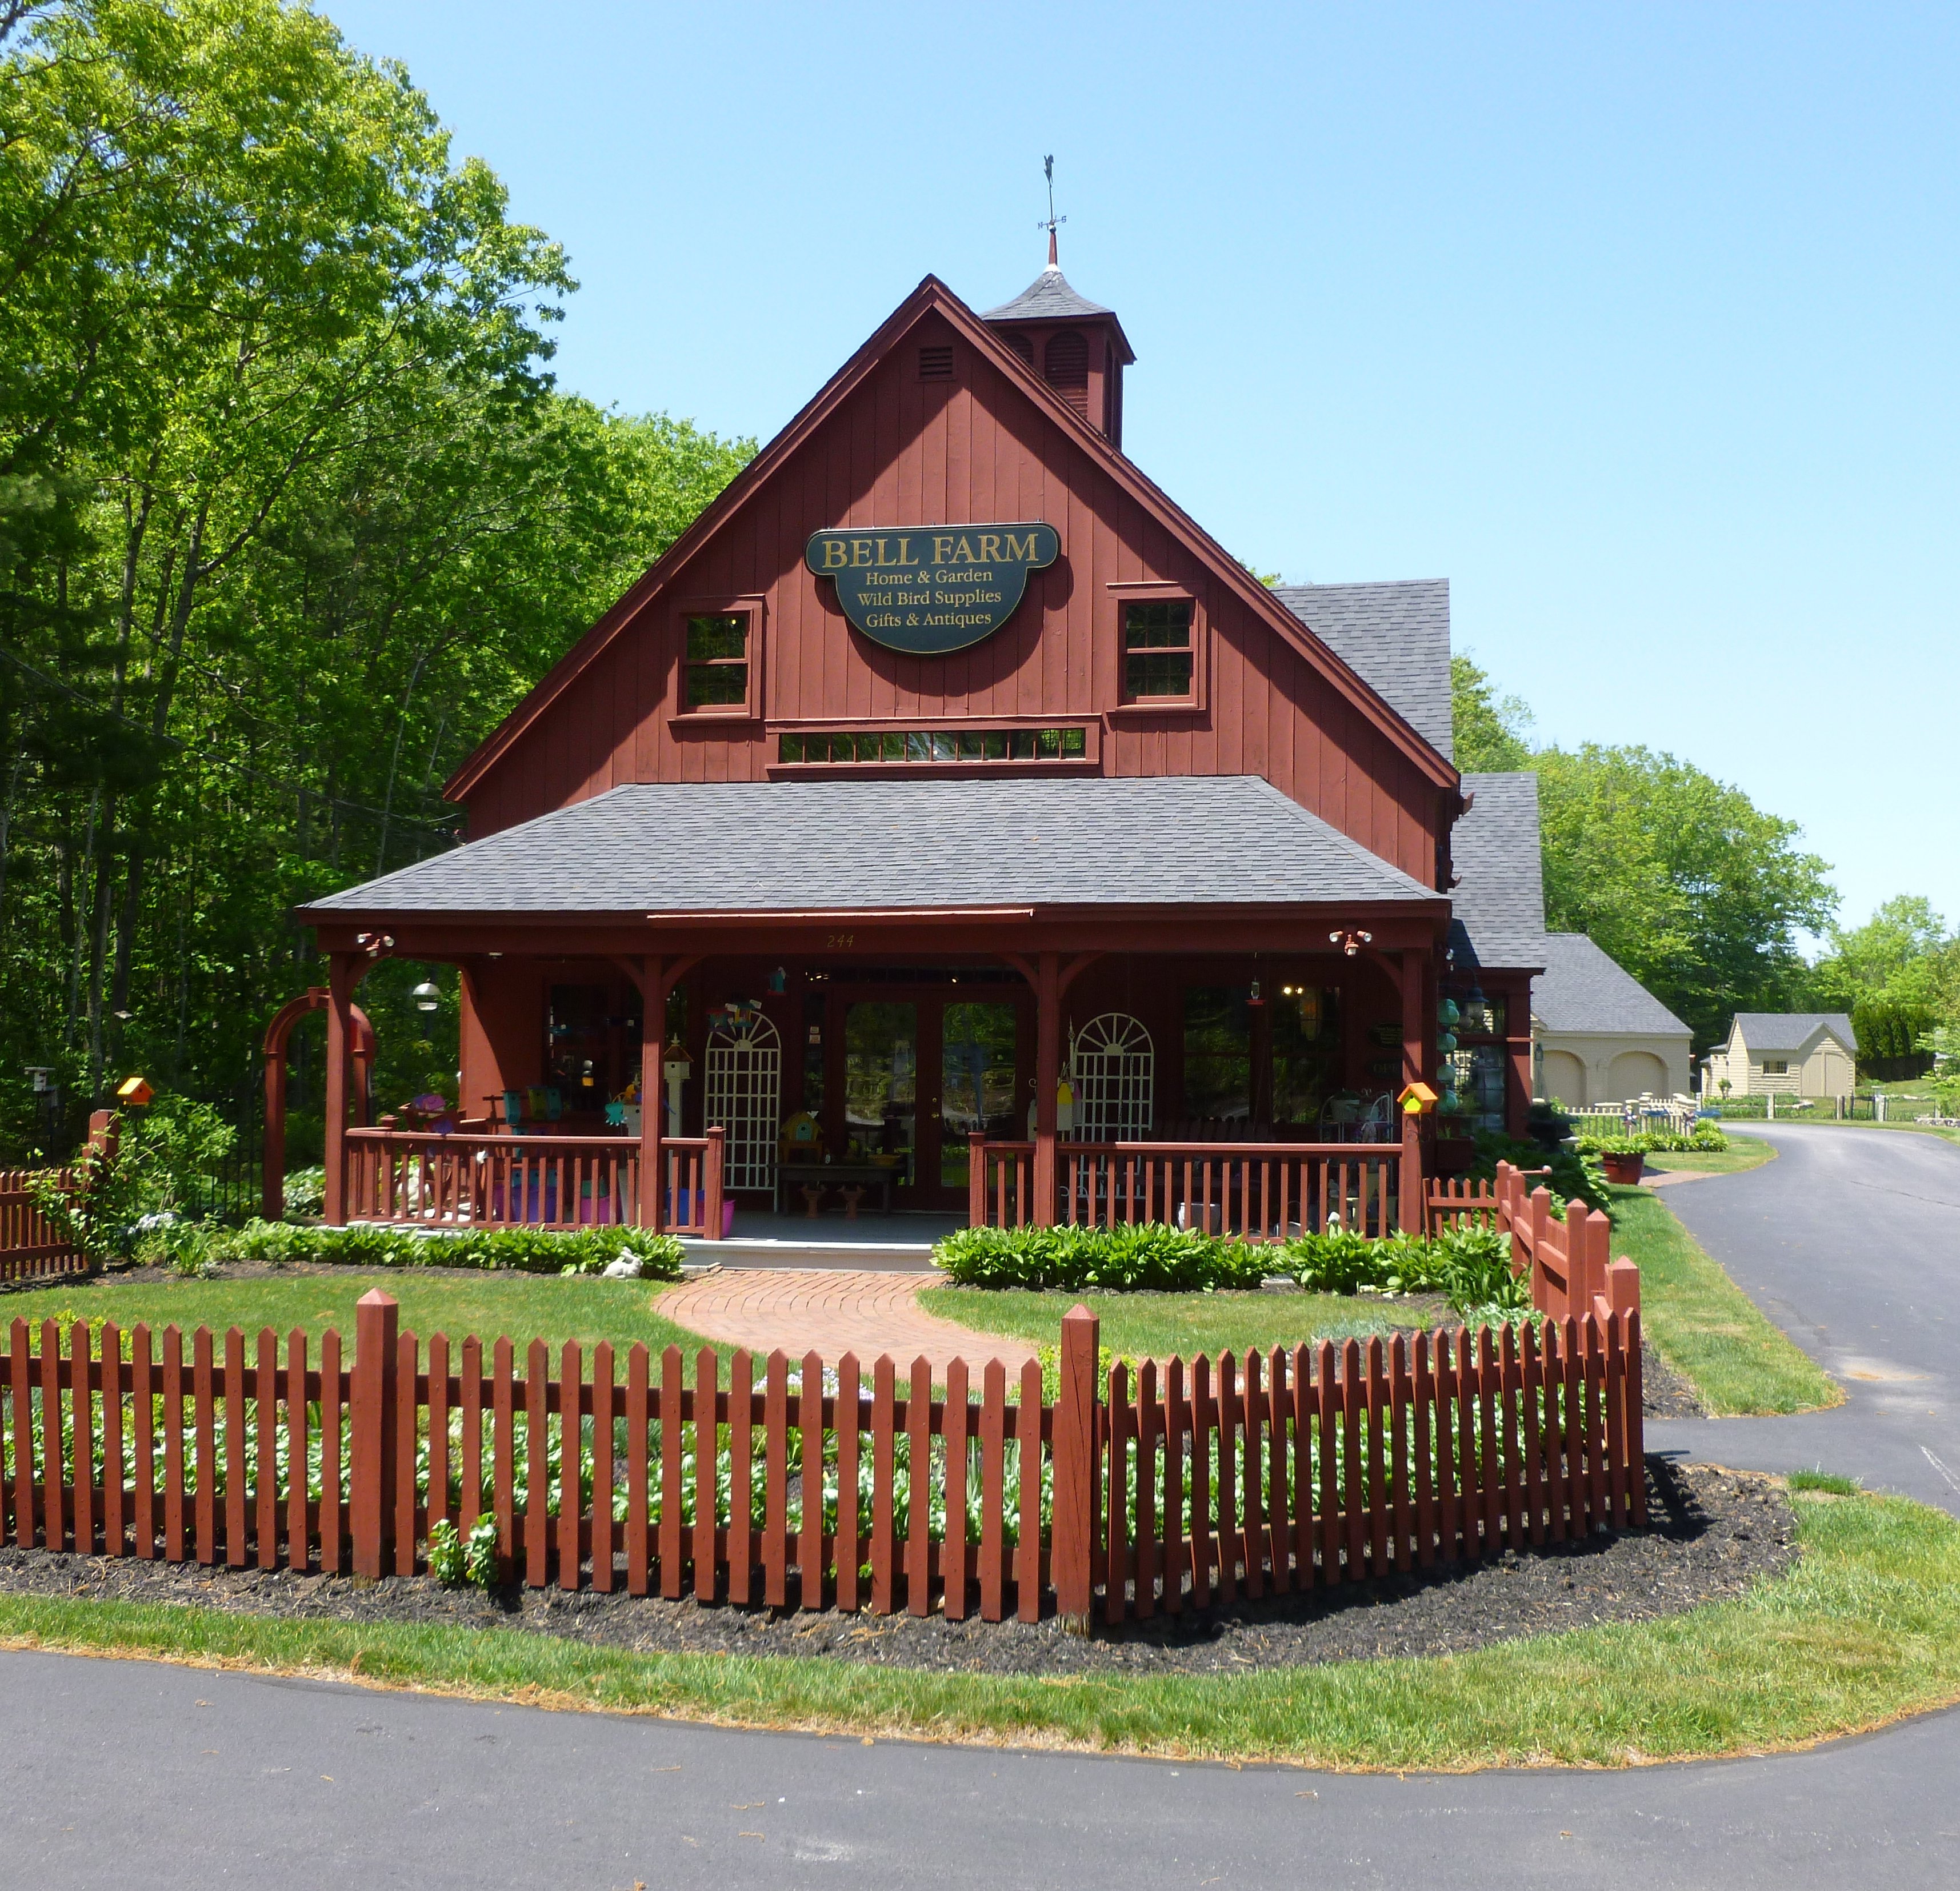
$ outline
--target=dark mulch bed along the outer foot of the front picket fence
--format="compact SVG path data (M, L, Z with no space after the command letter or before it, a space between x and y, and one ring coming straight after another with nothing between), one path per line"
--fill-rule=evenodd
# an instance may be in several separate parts
M506 1589L427 1577L259 1574L122 1558L0 1550L0 1593L194 1603L247 1615L425 1623L559 1634L645 1654L798 1654L974 1673L1231 1673L1370 1656L1482 1648L1595 1623L1650 1621L1740 1595L1797 1556L1793 1517L1768 1478L1648 1460L1644 1532L1599 1534L1478 1568L1388 1577L1068 1634L1054 1621L949 1623L702 1607L655 1597Z

